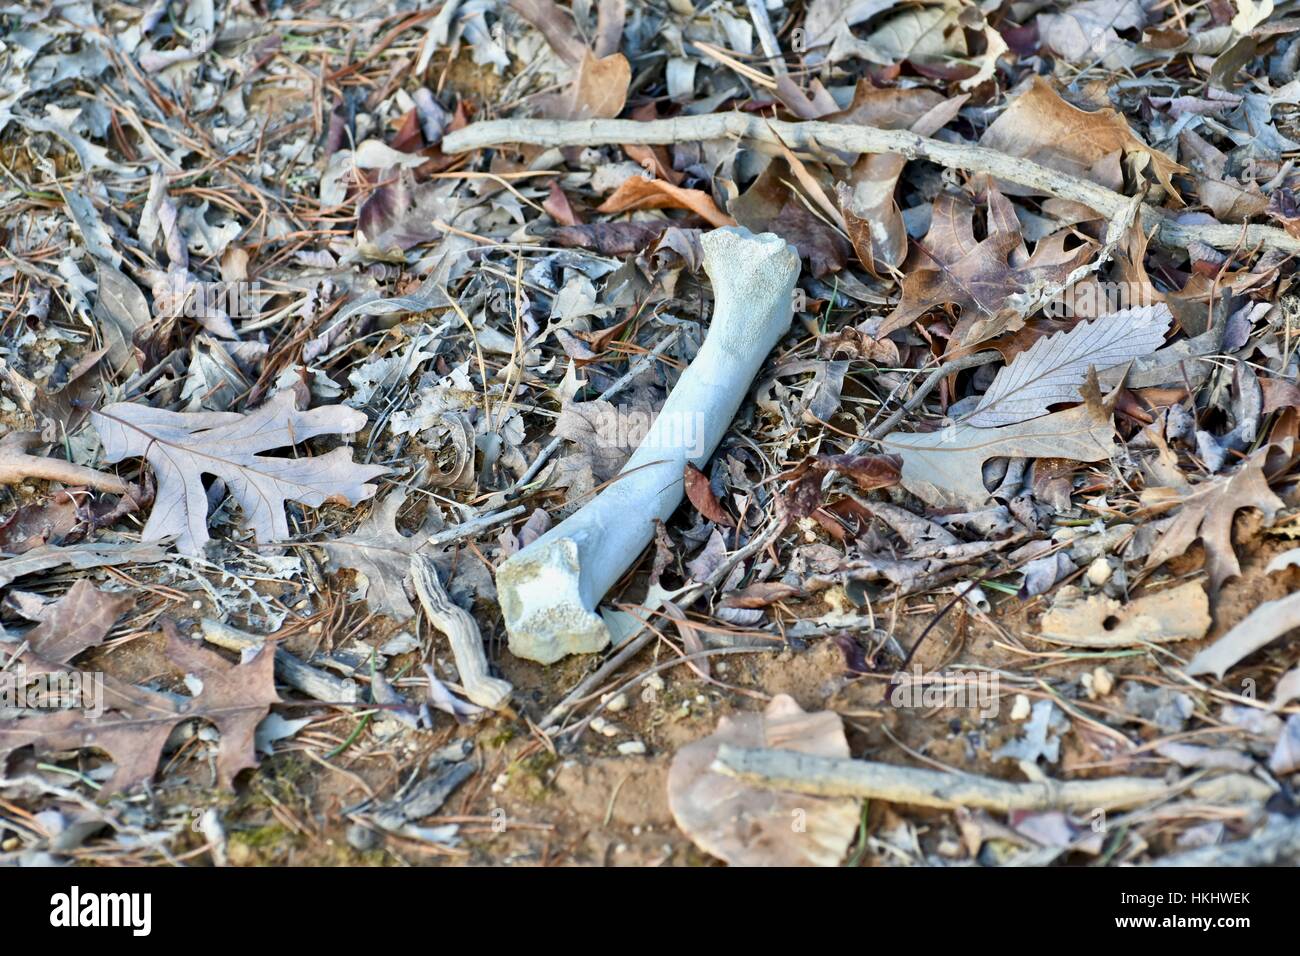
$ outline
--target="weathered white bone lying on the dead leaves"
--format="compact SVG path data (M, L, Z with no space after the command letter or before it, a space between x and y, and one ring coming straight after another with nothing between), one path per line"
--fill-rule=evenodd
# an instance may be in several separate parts
M715 229L701 239L714 317L694 362L615 480L497 570L516 657L552 663L610 643L595 605L681 503L731 425L763 359L790 328L800 259L780 237Z

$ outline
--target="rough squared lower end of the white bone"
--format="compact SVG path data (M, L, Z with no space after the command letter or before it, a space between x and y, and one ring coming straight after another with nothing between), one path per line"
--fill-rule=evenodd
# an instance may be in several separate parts
M582 600L577 542L562 537L497 570L497 592L510 633L510 653L538 663L590 654L610 643L610 630Z

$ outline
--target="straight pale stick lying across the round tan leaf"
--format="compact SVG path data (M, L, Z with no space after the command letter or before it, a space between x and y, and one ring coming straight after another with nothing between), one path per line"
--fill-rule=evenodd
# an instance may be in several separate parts
M1208 801L1266 800L1273 790L1245 774L1170 786L1158 777L1112 777L1104 780L1009 783L974 774L872 763L864 760L812 757L794 750L745 749L723 744L710 770L745 783L815 796L853 796L915 806L978 806L985 810L1114 810L1165 800L1183 791Z

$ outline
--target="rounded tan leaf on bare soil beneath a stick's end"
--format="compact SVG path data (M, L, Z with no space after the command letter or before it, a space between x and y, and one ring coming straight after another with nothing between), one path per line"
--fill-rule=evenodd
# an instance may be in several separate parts
M697 847L733 866L835 866L858 826L858 801L763 790L714 773L722 744L848 757L840 715L805 713L777 695L763 714L723 717L710 736L677 750L668 806ZM793 826L792 826L793 823Z

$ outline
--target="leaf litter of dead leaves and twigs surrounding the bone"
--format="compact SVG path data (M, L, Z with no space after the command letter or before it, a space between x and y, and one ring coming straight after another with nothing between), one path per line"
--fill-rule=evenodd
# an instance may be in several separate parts
M0 861L1296 845L1288 10L4 8ZM790 332L615 646L517 659L497 567L618 483L732 224ZM1015 804L1193 773L1102 839Z

